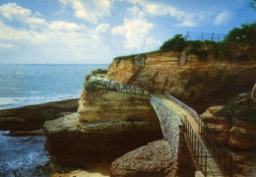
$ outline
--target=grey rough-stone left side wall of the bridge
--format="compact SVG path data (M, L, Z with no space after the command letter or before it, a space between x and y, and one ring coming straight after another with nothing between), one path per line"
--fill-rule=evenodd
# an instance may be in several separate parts
M163 138L170 146L172 157L177 159L180 118L173 109L154 95L151 95L151 104L159 117Z

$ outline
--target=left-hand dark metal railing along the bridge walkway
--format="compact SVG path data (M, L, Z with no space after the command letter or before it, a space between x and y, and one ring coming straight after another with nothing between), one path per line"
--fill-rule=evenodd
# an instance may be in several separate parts
M185 116L185 132L187 134L187 139L191 144L191 148L194 151L194 158L197 158L197 167L207 176L207 153L205 148L203 148L200 143L195 131L191 127L187 117Z

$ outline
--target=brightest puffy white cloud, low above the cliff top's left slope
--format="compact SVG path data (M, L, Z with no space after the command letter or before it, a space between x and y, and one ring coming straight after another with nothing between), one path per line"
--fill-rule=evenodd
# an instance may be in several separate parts
M153 24L145 20L129 20L125 18L124 25L112 28L112 33L124 36L125 48L139 49L143 47L150 29L153 29L153 27Z

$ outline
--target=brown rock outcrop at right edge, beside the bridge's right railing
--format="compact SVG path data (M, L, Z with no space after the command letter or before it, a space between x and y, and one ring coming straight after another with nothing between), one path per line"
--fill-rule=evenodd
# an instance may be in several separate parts
M256 148L256 102L240 93L225 105L209 107L201 117L230 148Z

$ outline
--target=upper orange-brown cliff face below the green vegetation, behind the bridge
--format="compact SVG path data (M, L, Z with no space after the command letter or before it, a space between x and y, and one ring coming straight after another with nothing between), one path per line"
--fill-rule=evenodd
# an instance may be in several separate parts
M199 112L251 89L256 80L255 61L228 62L212 55L199 61L198 56L189 54L181 65L179 53L169 51L145 54L143 62L137 66L134 56L116 58L108 67L107 78L150 91L164 90Z

